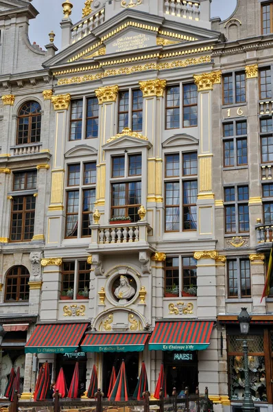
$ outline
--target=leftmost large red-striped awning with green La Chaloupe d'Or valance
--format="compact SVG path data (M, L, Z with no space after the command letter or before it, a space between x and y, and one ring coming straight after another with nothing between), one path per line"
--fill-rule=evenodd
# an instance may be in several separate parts
M25 345L25 353L64 354L74 352L88 323L61 323L36 326Z

